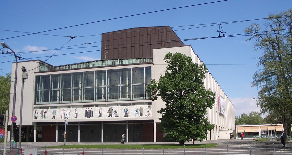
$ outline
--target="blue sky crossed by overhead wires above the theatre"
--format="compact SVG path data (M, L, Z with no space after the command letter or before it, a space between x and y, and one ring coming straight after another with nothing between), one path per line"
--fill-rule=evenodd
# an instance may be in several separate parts
M67 27L76 24L105 20L114 17L145 13L180 6L188 6L199 3L208 3L215 0L197 1L1 1L1 25L0 29L39 32L50 29ZM206 24L217 22L229 22L238 20L250 20L265 18L270 13L277 13L292 8L289 0L230 0L188 8L168 10L158 13L126 17L117 20L98 22L67 29L60 29L45 34L62 36L86 36L102 34L105 32L128 29L133 27L166 26L171 27ZM262 25L265 20L224 24L222 28L226 35L241 34L252 23ZM197 26L193 26L197 27ZM183 27L185 28L185 27ZM173 28L173 30L183 29ZM187 27L191 28L191 27ZM215 37L218 36L218 26L203 27L175 31L180 39ZM25 33L0 31L0 39L19 36ZM261 51L254 51L253 42L246 42L247 37L213 38L185 41L186 45L192 45L208 70L218 81L227 96L235 106L235 115L248 113L252 110L259 111L252 97L257 96L257 89L251 87L253 74L258 70L255 57L261 55ZM0 40L6 42L15 52L32 50L45 50L64 45L69 38L33 34L18 38ZM70 40L65 46L78 45L89 42L101 41L101 36L80 37ZM76 46L99 46L101 43ZM100 47L60 50L56 54L100 50ZM21 54L24 58L52 55L55 51L34 52ZM9 73L13 56L4 57L0 54L0 75ZM56 56L48 59L49 64L72 64L83 61L100 59L100 51L83 54L70 54ZM46 58L40 58L46 60ZM223 64L252 64L252 65L223 65ZM4 73L3 73L4 72Z

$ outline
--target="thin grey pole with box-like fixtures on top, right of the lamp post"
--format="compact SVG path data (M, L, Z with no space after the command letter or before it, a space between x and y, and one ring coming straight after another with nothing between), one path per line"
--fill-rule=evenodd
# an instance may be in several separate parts
M20 118L19 118L19 133L18 133L18 152L20 152L21 148L21 123L22 123L22 103L23 103L23 85L25 82L25 79L28 78L28 74L25 73L26 69L25 66L22 66L22 84L21 84L21 99L20 99Z

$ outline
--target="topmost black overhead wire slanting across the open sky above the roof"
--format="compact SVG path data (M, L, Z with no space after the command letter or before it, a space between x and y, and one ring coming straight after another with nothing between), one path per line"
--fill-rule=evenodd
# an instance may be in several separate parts
M174 10L174 9L179 9L179 8L187 8L187 7L191 7L191 6L199 6L199 5L211 4L211 3L218 3L218 2L223 2L223 1L230 1L230 0L222 0L222 1L208 2L208 3L201 3L201 4L195 4L195 5L189 5L189 6L182 6L182 7L177 7L177 8L170 8L170 9L164 9L164 10L151 11L151 12L146 12L146 13L139 13L139 14L135 14L135 15L128 15L128 16L116 17L116 18L111 18L111 19L106 19L106 20L99 20L99 21L89 22L89 23L84 23L84 24L78 24L78 25L72 25L72 26L67 26L67 27L61 27L61 28L57 28L57 29L51 29L51 30L36 32L36 33L32 33L32 34L38 34L38 33L43 33L43 32L48 32L48 31L65 29L65 28L69 28L69 27L76 27L76 26L81 26L81 25L86 25L86 24L93 24L93 23L97 23L97 22L104 22L104 21L108 21L108 20L115 20L115 19L120 19L120 18L125 18L125 17L132 17L132 16L144 15L144 14L149 14L149 13L156 13L156 12L161 12L161 11ZM25 34L25 35L21 35L21 36L28 36L28 35L32 35L32 34ZM0 39L0 40L17 38L17 37L21 37L21 36L14 36L14 37L4 38L4 39Z

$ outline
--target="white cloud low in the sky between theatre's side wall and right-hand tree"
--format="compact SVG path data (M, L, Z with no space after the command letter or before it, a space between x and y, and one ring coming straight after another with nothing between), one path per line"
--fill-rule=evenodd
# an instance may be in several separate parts
M252 98L230 98L234 105L235 116L251 111L260 112L260 107L256 106L256 100Z

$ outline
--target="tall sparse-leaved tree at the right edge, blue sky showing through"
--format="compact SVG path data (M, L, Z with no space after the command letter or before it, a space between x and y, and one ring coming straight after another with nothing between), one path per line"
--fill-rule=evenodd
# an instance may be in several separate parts
M278 114L287 133L292 123L292 10L269 15L264 27L253 24L245 29L251 34L247 40L254 40L255 49L263 53L252 82L259 89L256 103L261 112Z

